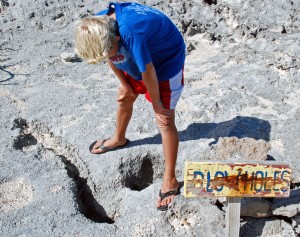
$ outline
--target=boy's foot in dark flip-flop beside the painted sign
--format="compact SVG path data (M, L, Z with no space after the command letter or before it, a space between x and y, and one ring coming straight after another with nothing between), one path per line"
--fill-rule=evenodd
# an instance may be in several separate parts
M168 209L169 203L174 200L174 197L179 192L179 182L176 179L172 181L164 181L162 189L160 190L160 195L156 202L156 207L159 210Z

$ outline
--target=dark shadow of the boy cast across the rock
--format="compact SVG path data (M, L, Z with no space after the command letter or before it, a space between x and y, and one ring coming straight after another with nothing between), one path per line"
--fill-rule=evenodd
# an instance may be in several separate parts
M218 142L220 137L254 138L256 140L270 140L271 125L268 121L255 117L237 116L221 123L192 123L186 130L179 131L179 141L213 138L210 145ZM160 134L140 140L131 141L130 147L145 144L161 144Z

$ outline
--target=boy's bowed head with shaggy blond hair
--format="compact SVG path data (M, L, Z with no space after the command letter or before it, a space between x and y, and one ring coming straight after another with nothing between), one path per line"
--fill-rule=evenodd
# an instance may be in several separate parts
M76 22L75 53L88 63L106 59L118 39L116 21L109 16L87 17Z

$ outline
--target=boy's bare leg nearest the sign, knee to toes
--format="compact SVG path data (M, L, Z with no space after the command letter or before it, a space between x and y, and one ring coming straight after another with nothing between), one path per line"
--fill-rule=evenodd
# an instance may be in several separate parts
M163 153L165 160L165 171L163 176L163 184L161 188L162 193L176 190L178 188L178 181L175 176L175 166L178 153L178 132L175 126L175 111L173 110L173 116L168 119L167 124L162 124L156 119L157 126L160 129L163 143ZM164 198L158 198L156 206L164 206L169 204L174 198L174 195Z

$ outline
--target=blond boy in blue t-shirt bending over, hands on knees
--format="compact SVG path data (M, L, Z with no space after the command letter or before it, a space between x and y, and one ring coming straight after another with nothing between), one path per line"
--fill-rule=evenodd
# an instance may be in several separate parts
M89 63L107 60L120 81L114 135L95 141L90 147L92 153L126 145L126 129L136 98L145 94L152 103L165 161L156 206L167 210L179 193L175 177L179 143L175 107L184 85L182 35L166 15L154 8L138 3L110 3L96 16L77 22L75 52Z

